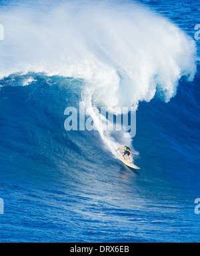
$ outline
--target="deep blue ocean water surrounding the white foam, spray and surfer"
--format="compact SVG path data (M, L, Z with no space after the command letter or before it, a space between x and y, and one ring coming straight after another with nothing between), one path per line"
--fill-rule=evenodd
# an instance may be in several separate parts
M199 1L140 2L194 37ZM169 102L139 102L139 170L113 158L98 131L65 130L84 80L28 72L0 84L1 242L199 242L198 62Z

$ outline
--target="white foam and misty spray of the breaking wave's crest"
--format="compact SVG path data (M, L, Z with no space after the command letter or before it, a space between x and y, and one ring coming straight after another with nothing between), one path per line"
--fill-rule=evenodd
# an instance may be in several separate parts
M1 11L0 76L43 72L83 78L99 106L132 106L157 91L166 102L181 76L193 80L195 42L133 3L59 3Z

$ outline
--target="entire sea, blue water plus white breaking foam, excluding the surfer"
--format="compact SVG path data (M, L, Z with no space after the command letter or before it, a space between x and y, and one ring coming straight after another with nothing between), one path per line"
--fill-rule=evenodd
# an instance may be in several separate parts
M99 17L91 14L86 21L82 11L95 13L99 1L73 3L73 15L65 2L1 1L0 241L199 242L200 215L194 211L200 197L200 41L194 29L199 1L137 1L134 26L131 1L111 1L105 17L97 8ZM117 19L113 9L121 13ZM43 17L35 19L34 12ZM165 27L157 27L157 15ZM169 24L178 30L169 33ZM64 127L65 108L78 109L83 92L87 98L92 91L98 106L107 104L108 94L112 104L118 94L110 80L114 84L117 78L117 104L137 104L137 131L129 147L139 170L115 158L111 138L102 138L101 131Z

